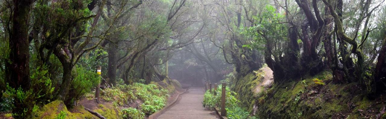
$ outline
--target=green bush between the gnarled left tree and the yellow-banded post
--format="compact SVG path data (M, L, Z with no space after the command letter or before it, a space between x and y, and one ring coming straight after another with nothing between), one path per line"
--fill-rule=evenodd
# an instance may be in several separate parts
M71 81L70 91L68 94L68 98L71 99L71 101L79 100L86 93L90 92L93 87L97 86L100 80L97 73L87 70L81 66L78 66L76 71L77 75Z

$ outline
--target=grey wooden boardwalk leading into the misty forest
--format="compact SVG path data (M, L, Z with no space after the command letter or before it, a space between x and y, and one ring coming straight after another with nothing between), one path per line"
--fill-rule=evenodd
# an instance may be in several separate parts
M202 107L204 89L202 87L191 87L182 94L178 102L168 109L157 119L217 119L212 111Z

